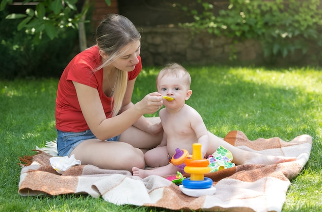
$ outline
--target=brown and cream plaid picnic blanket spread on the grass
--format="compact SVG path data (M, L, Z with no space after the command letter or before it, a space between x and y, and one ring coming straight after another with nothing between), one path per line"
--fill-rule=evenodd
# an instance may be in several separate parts
M296 161L274 165L247 164L207 174L214 181L216 193L189 197L177 185L159 177L134 177L129 171L100 169L79 165L62 175L54 170L48 153L32 156L30 165L21 170L19 194L88 194L117 205L162 207L172 210L205 211L281 211L286 192L309 160L312 137L306 134L285 142L280 138L249 141L241 131L230 131L225 141L238 148L265 155L297 157ZM26 161L27 158L22 158Z

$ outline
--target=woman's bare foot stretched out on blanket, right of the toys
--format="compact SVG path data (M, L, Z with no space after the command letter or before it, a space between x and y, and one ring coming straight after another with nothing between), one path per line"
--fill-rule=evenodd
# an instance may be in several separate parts
M258 154L256 157L252 157L250 160L244 161L244 164L277 164L277 163L284 163L295 161L296 157L285 157L285 156L265 156Z

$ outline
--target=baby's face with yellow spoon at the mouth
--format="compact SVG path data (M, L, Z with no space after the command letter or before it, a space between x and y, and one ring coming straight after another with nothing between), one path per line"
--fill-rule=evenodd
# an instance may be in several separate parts
M165 75L158 79L157 91L166 97L171 97L173 101L163 100L163 104L168 107L174 104L185 104L188 86L181 78Z

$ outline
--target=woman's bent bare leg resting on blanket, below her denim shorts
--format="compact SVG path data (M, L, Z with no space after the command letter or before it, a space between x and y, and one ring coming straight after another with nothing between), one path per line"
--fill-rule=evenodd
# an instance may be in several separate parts
M73 154L82 165L128 171L132 171L133 166L145 168L143 152L124 142L86 140L70 153Z

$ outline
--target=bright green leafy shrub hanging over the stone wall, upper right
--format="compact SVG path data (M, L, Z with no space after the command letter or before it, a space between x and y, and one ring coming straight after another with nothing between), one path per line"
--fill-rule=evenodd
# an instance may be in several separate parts
M182 26L195 32L207 30L235 40L254 38L261 41L264 56L279 54L285 57L297 49L304 54L310 43L322 47L319 0L229 0L229 6L220 10L216 8L216 2L197 2L203 8L201 11L182 7L194 17L193 23Z

